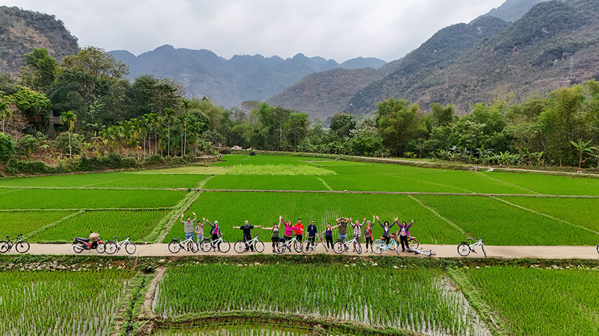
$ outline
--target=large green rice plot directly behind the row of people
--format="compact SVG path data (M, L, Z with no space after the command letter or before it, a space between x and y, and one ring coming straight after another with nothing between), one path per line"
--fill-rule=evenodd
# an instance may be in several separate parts
M326 228L326 223L335 225L339 217L352 217L362 221L372 221L372 215L377 215L381 221L392 223L395 217L400 221L409 222L414 219L410 234L416 236L423 244L452 244L459 242L463 234L445 221L439 219L430 210L423 208L418 201L405 196L393 194L317 194L292 192L204 192L196 200L186 215L196 212L198 220L206 217L213 222L218 220L224 232L225 239L235 241L241 237L241 231L232 229L248 220L251 225L271 227L284 220L296 223L302 219L304 228L311 220L315 221L319 232ZM207 236L209 225L204 227ZM378 223L373 225L375 238L380 237L382 229ZM395 232L397 226L392 228ZM338 229L333 230L337 237ZM261 233L260 240L269 241L271 232L254 229L253 235ZM351 235L351 228L348 226ZM182 225L178 222L172 227L165 238L168 243L171 238L182 236ZM304 238L306 234L304 233ZM364 236L364 234L362 234ZM364 239L364 238L363 238ZM364 240L363 240L364 241Z

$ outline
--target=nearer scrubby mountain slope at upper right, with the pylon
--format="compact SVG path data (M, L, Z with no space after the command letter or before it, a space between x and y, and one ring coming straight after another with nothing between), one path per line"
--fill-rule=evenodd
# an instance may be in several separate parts
M506 97L520 102L595 77L598 41L599 1L541 2L451 62L410 73L403 63L416 51L408 54L390 75L354 96L345 110L368 113L386 98L406 99L423 109L432 102L455 104L459 113L477 102Z

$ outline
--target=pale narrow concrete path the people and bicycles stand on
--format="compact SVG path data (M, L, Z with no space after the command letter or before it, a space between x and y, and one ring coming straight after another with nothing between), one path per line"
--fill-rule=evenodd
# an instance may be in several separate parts
M274 254L269 243L264 243L265 249L264 254ZM362 254L361 256L375 256L370 250L368 254L366 254L366 245L362 244ZM452 258L452 257L460 257L457 253L457 245L420 245L420 249L428 250L431 249L437 255L434 258ZM596 246L485 246L487 250L488 258L504 258L504 259L519 259L519 258L542 258L542 259L590 259L590 260L599 260L599 253L597 252ZM480 247L477 249L478 253L470 254L465 258L485 258L483 255L483 251L481 251ZM191 251L179 251L177 254L171 254L169 252L167 244L148 244L148 245L137 245L136 253L133 256L199 256L199 255L209 255L209 256L241 256L247 254L253 254L255 252L246 252L245 254L238 254L233 251L233 247L231 246L231 250L226 254L222 254L220 251L209 251L202 252L201 250L198 253L194 254ZM312 254L319 253L328 253L334 254L333 251L326 251L322 245L319 245ZM18 254L17 251L8 252L8 254ZM51 254L51 255L64 255L64 254L76 254L73 251L71 244L31 244L31 248L27 252L27 254ZM282 255L287 254L297 254L295 251L289 252L286 251ZM346 255L359 256L359 254L355 252L346 252ZM81 252L82 256L89 255L98 255L97 251L83 251ZM102 254L106 255L106 254ZM113 256L123 256L127 255L126 252L121 249ZM388 251L386 254L384 251L381 256L415 256L412 253L400 252L397 254L397 251ZM418 257L428 258L426 256L420 255Z

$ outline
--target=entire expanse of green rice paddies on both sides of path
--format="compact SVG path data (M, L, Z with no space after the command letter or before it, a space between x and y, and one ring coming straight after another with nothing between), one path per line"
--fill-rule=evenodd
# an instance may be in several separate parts
M414 220L410 234L421 244L481 236L487 245L599 243L599 179L313 157L222 159L0 179L0 237L64 243L94 230L105 239L166 243L184 235L180 215L196 212L199 221L218 220L231 242L241 238L233 226L245 220L267 227L279 216L304 226L314 220L322 231L341 216L377 215ZM270 241L270 231L258 233ZM198 252L166 262L94 254L72 259L92 267L8 266L34 257L0 256L0 335L599 335L594 260L559 267L391 255L229 261ZM107 269L110 260L128 267Z

